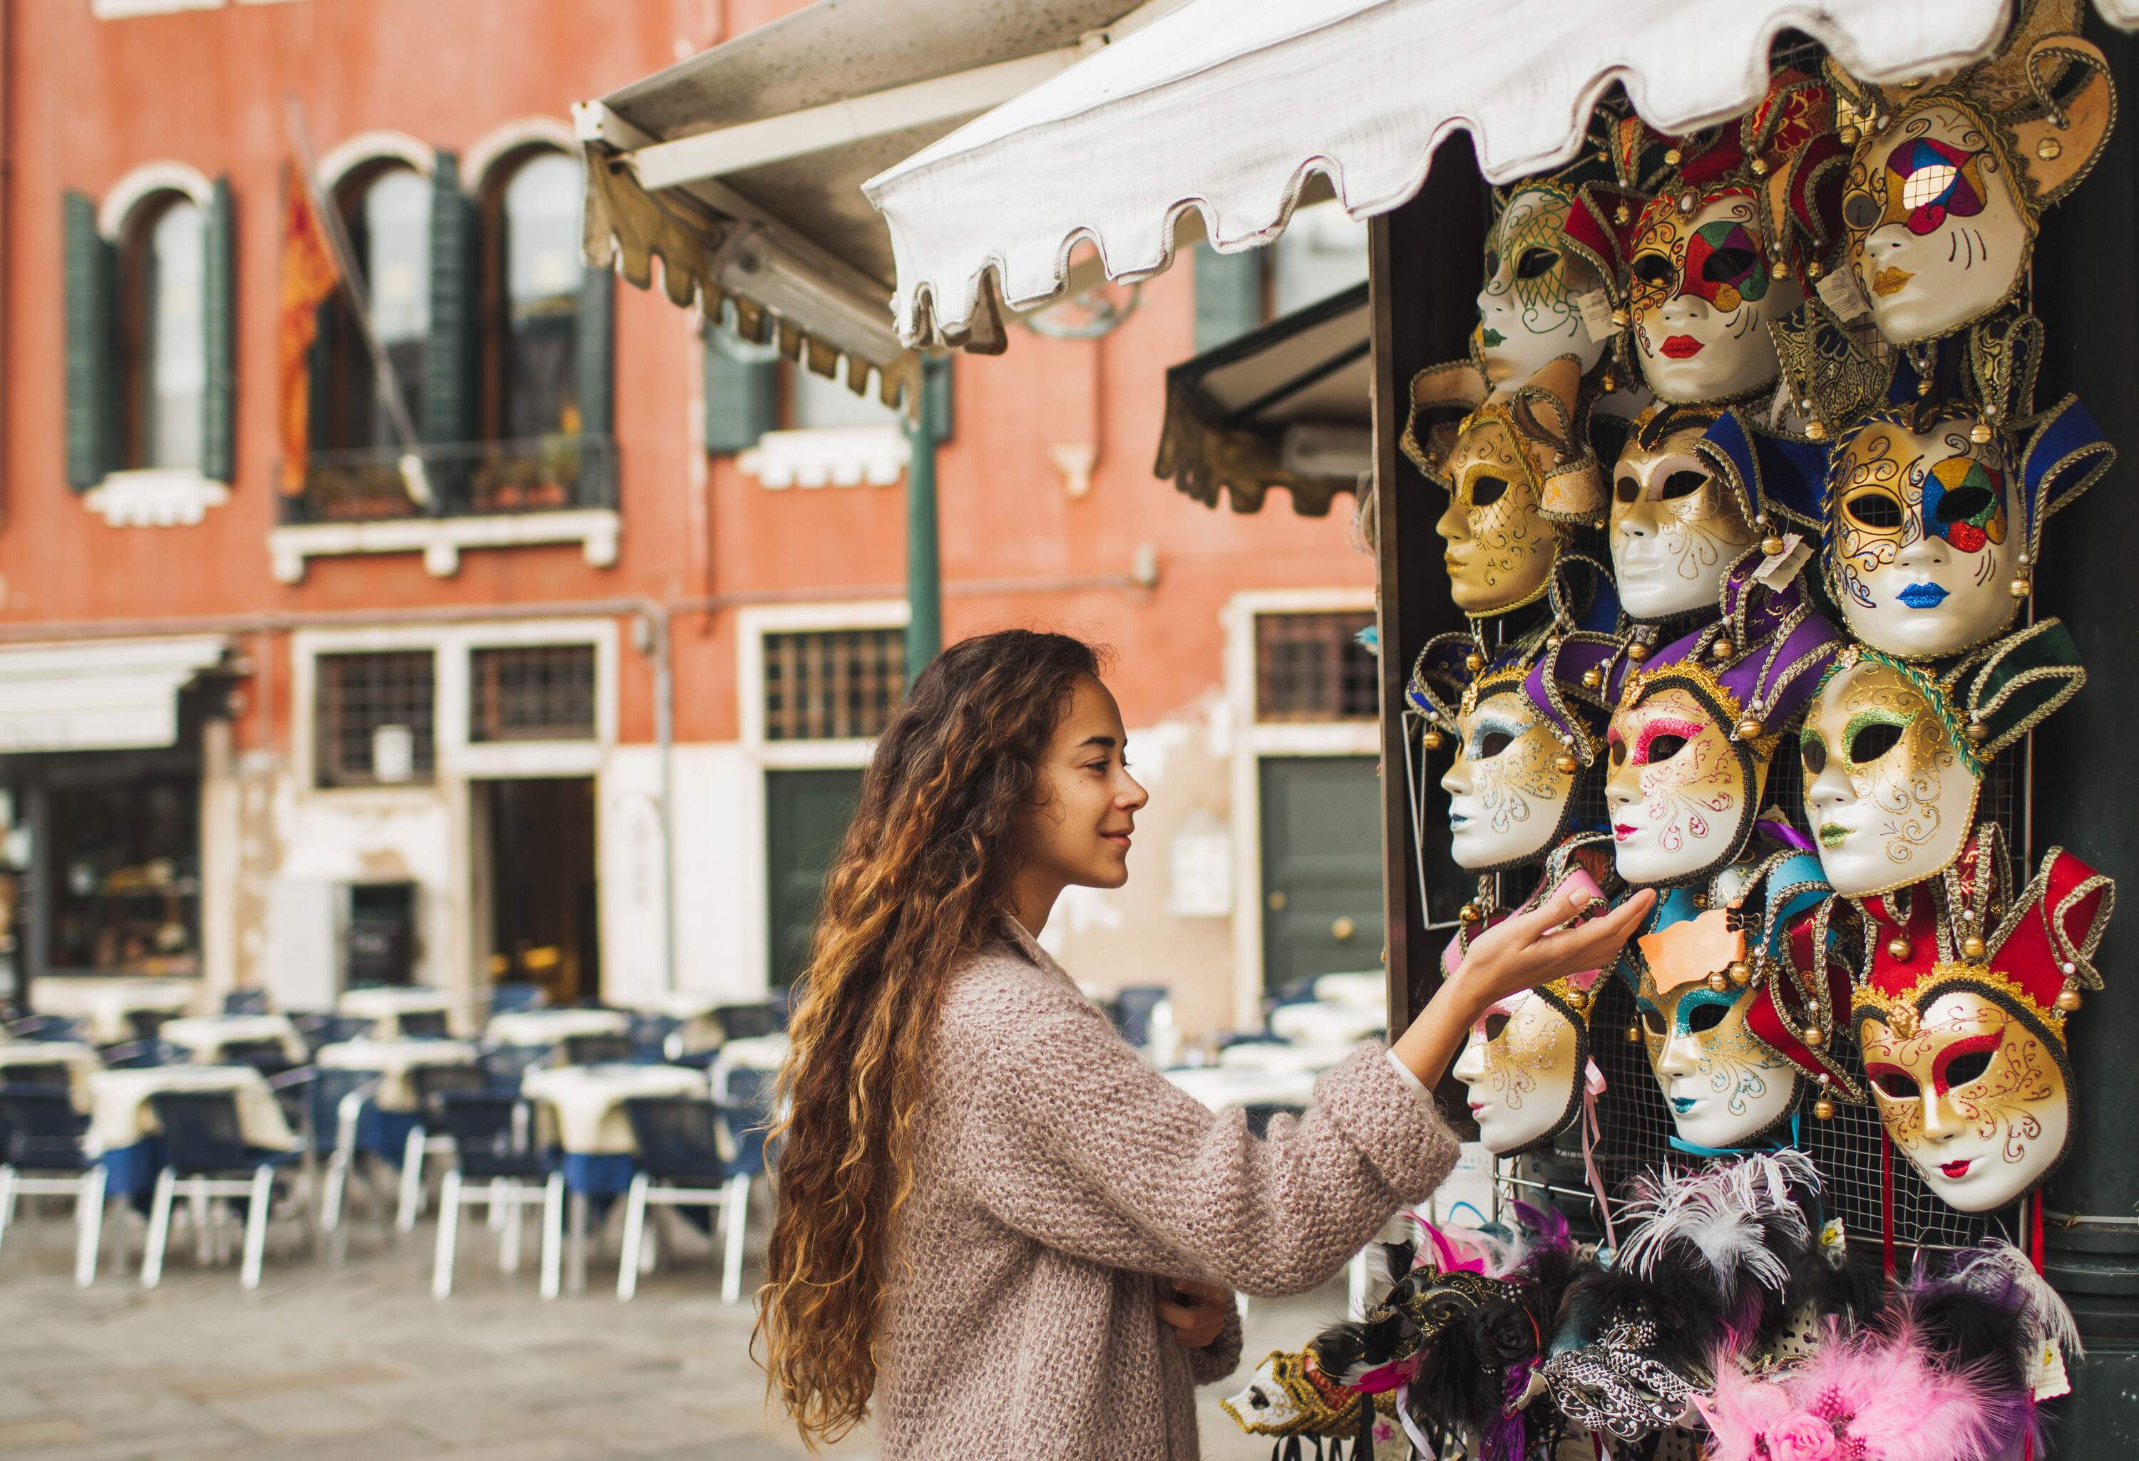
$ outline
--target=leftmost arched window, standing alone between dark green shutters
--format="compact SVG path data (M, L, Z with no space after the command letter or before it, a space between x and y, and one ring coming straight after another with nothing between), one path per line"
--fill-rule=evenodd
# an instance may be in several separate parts
M182 193L156 195L128 218L120 310L124 466L201 466L205 235L207 216Z

